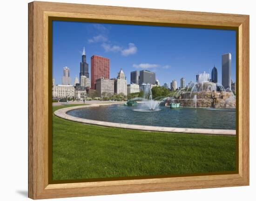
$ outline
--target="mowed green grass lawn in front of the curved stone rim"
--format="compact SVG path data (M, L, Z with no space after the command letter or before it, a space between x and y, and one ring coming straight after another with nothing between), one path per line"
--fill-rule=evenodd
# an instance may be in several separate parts
M53 115L53 180L233 170L235 136L126 130Z

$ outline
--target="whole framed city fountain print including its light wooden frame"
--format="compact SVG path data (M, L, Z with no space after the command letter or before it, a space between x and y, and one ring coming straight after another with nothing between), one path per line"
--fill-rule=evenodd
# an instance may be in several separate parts
M32 199L249 185L249 16L28 4Z

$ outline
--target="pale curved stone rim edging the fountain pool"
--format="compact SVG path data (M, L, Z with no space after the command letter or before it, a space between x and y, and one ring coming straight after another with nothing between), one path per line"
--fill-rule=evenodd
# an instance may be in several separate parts
M228 135L228 136L236 135L236 130L144 126L144 125L135 125L135 124L126 124L126 123L104 122L104 121L83 119L80 117L73 117L73 116L67 115L67 111L70 111L70 110L76 110L76 109L87 108L87 107L99 107L99 106L105 106L110 104L121 104L121 103L89 104L89 105L67 107L67 108L62 108L54 111L54 115L66 120L74 121L74 122L94 124L94 125L107 126L107 127L115 127L115 128L121 128L121 129L146 130L146 131L156 131L156 132L172 132L172 133L208 134L208 135Z

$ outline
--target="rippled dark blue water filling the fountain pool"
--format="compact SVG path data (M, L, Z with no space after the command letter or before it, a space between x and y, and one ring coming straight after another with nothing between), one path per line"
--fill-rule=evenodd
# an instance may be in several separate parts
M158 106L158 112L141 111L141 103L134 107L121 104L70 110L68 115L105 122L146 126L198 129L236 129L236 109L177 108ZM147 109L145 108L147 111ZM144 111L145 111L144 110ZM150 110L154 111L154 110Z

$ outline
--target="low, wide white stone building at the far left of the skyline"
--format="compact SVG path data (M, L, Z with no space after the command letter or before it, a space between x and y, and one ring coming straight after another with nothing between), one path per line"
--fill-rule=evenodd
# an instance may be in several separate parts
M52 89L52 97L54 99L74 97L73 85L54 85Z

